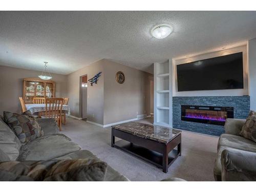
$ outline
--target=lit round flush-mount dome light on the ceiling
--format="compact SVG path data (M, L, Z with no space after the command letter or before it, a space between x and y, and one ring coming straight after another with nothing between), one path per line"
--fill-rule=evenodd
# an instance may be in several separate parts
M162 24L153 27L151 34L157 39L163 39L173 32L173 28L170 25Z

